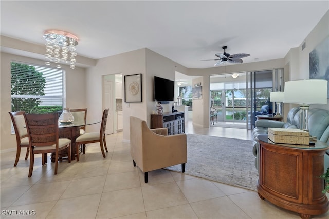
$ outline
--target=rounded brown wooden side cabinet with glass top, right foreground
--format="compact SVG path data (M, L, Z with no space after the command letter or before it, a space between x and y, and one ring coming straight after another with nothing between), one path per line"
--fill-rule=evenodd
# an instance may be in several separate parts
M319 176L324 172L324 153L329 146L324 142L313 147L276 144L267 135L259 135L257 141L260 198L304 219L326 213L329 203Z

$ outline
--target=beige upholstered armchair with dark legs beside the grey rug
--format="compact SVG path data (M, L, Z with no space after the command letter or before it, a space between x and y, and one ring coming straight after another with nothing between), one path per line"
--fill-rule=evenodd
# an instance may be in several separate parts
M167 128L149 129L146 121L130 116L130 153L134 166L144 173L181 164L185 172L187 162L186 134L168 135Z

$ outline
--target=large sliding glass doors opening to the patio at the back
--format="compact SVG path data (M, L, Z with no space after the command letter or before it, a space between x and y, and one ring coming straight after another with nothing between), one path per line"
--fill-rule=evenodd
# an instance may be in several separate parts
M269 97L282 91L283 69L236 74L210 76L210 107L217 110L218 122L243 122L253 129L257 115L275 112Z

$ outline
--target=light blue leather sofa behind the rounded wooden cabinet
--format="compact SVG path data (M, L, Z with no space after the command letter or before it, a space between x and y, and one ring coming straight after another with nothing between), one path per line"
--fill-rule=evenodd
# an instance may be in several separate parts
M257 159L257 144L256 137L259 134L267 134L267 128L287 128L298 129L300 127L300 109L294 107L289 110L287 122L275 120L257 120L255 128L252 130L253 149L252 153L255 156L255 167L258 169ZM316 136L318 141L329 144L329 111L324 109L308 110L308 131L312 136ZM324 155L324 170L329 168L329 150Z

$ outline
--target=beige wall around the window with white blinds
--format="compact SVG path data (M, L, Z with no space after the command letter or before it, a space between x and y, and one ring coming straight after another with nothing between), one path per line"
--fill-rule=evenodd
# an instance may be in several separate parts
M1 52L0 74L0 150L15 149L16 138L11 134L11 120L8 112L11 111L10 98L10 62L18 61L37 65L44 65L44 61ZM76 67L70 69L63 66L66 71L66 103L70 108L85 108L85 69Z

